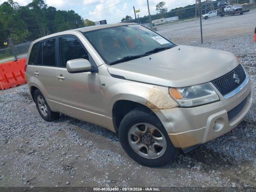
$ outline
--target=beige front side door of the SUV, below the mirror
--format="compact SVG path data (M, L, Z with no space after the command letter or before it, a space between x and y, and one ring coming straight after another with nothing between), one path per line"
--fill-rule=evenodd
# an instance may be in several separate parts
M98 73L69 73L66 69L68 60L84 58L92 64L92 58L75 36L58 38L58 50L60 67L56 69L56 80L60 112L100 126L106 125Z

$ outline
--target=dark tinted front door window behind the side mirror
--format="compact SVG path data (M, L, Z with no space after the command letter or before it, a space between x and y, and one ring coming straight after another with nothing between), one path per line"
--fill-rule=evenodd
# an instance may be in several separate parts
M60 64L66 67L67 61L72 59L87 59L88 53L74 37L62 37L59 40Z

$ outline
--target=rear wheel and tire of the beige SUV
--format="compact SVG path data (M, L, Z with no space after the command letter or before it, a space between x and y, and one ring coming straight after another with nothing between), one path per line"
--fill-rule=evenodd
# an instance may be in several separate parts
M35 90L34 93L34 101L36 103L36 108L40 114L40 116L46 121L53 121L59 118L60 113L54 112L50 109L44 95L40 90Z

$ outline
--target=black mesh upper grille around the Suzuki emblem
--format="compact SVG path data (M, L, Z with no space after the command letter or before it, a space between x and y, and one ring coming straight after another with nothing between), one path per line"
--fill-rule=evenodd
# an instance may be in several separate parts
M234 74L239 78L239 83L236 83L236 78L234 78ZM216 88L220 91L222 95L226 95L236 89L242 82L244 82L246 78L246 74L244 72L244 68L241 64L239 64L236 68L230 71L228 74L221 76L212 81L212 83L216 86Z

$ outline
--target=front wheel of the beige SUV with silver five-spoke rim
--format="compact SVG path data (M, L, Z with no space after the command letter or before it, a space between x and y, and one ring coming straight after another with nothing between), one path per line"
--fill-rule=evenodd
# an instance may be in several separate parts
M144 126L144 131L143 131ZM147 130L152 132L153 137L148 140L148 133L145 132L146 126ZM135 134L130 134L132 130L138 130L143 132L142 135L136 137ZM156 128L156 129L155 129ZM138 131L134 132L138 135ZM159 135L160 134L160 135ZM170 162L175 158L177 148L175 148L160 120L157 116L150 110L144 108L135 108L131 110L124 116L120 123L118 136L122 148L124 151L136 162L146 165L146 166L162 166ZM139 141L138 144L134 144ZM156 139L157 138L157 139ZM162 141L158 139L161 138ZM152 140L153 139L153 140ZM135 141L134 141L135 140ZM164 142L166 141L166 143ZM161 146L158 146L160 142ZM166 144L166 145L165 145ZM132 147L133 146L133 147ZM134 150L134 146L146 146L138 147L139 150ZM154 148L154 149L153 149ZM147 153L151 151L150 153ZM155 152L154 152L155 151ZM152 153L153 152L153 153ZM153 155L152 155L153 154Z

